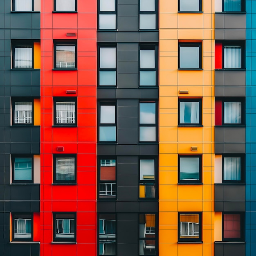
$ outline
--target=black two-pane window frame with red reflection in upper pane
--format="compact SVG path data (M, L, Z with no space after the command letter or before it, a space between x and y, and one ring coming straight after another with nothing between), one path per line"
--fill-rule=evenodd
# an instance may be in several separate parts
M101 160L115 160L115 180L102 180L102 181L105 181L105 182L101 182ZM115 184L115 188L116 188L116 191L115 191L115 196L114 195L110 195L109 197L107 197L108 195L106 195L106 198L104 197L101 197L100 196L100 184L101 183L106 183L106 184ZM116 156L100 156L98 158L98 200L117 200L117 157ZM112 187L112 185L111 185ZM111 191L112 191L112 188L111 188Z

